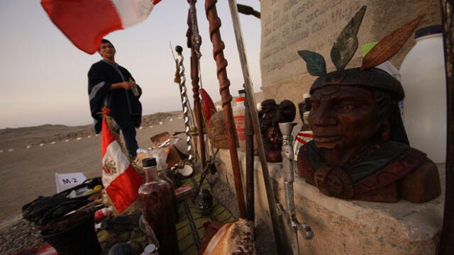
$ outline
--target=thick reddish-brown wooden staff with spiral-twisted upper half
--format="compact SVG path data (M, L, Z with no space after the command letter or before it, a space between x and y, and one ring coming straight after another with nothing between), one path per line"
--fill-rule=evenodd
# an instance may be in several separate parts
M235 181L236 197L238 199L238 209L240 210L240 217L245 219L247 215L243 195L243 184L241 183L240 164L238 163L238 154L236 152L236 139L231 106L232 96L228 89L230 81L227 78L227 60L223 54L225 45L221 40L221 33L219 32L219 28L221 28L221 19L218 17L216 11L216 3L217 0L205 0L205 12L209 22L210 40L211 43L213 43L213 57L216 61L219 91L222 99L224 120L226 121L228 148L232 163L233 179Z

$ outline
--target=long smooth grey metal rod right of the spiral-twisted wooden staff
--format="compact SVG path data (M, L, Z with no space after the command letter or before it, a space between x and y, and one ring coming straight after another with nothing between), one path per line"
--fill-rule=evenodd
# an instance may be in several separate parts
M270 172L268 171L268 164L265 159L265 149L263 147L262 136L260 135L260 125L258 121L257 104L255 103L253 84L250 81L250 73L248 67L248 60L245 54L245 47L243 42L243 33L241 32L240 20L238 18L238 10L236 8L235 0L228 0L230 6L233 30L235 30L236 45L238 46L238 53L240 55L241 69L243 70L243 78L245 81L246 97L248 98L250 114L253 121L253 127L255 131L255 140L258 144L258 155L260 157L260 164L262 166L263 180L265 182L265 190L267 193L268 208L270 210L270 216L272 220L272 228L275 234L275 240L277 245L277 252L280 254L280 247L282 246L282 240L279 232L279 220L277 218L277 208L275 195L271 185Z

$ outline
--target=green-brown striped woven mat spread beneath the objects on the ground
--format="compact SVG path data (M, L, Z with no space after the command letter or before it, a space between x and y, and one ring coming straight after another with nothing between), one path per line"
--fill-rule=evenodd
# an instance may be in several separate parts
M196 191L196 186L199 185L201 174L194 174L192 177L184 179L182 182L185 185L192 186ZM211 191L208 181L202 183L201 188L206 188ZM199 199L196 199L192 203L192 197L182 200L178 203L178 222L177 222L177 237L179 243L179 251L182 255L194 255L199 253L201 247L201 239L204 238L204 222L216 221L216 222L233 222L236 220L232 216L231 212L225 208L221 203L214 199L213 210L211 215L203 216L199 209ZM104 230L98 233L100 235L106 234ZM146 238L140 229L134 229L132 232L122 233L117 237L119 242L128 242L134 240L140 242L145 246ZM101 242L101 248L103 251L106 249L106 242Z

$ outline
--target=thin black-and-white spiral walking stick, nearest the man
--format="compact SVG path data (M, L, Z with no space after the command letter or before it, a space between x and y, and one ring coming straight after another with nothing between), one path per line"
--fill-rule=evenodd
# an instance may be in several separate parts
M175 47L175 51L177 51L177 77L175 77L175 82L179 84L179 94L182 98L182 106L183 106L183 118L184 118L184 133L186 134L186 142L187 142L187 152L189 154L188 160L192 160L192 145L191 145L191 134L189 130L191 127L189 125L189 101L187 99L186 94L186 77L184 77L184 65L183 60L184 57L182 55L183 48L181 46ZM178 78L178 79L177 79Z

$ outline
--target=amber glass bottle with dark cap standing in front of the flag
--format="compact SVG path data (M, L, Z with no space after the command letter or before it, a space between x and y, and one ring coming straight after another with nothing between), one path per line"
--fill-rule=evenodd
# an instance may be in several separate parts
M179 254L177 229L173 215L172 186L159 178L156 159L143 159L146 183L139 188L143 214L160 243L161 255Z

